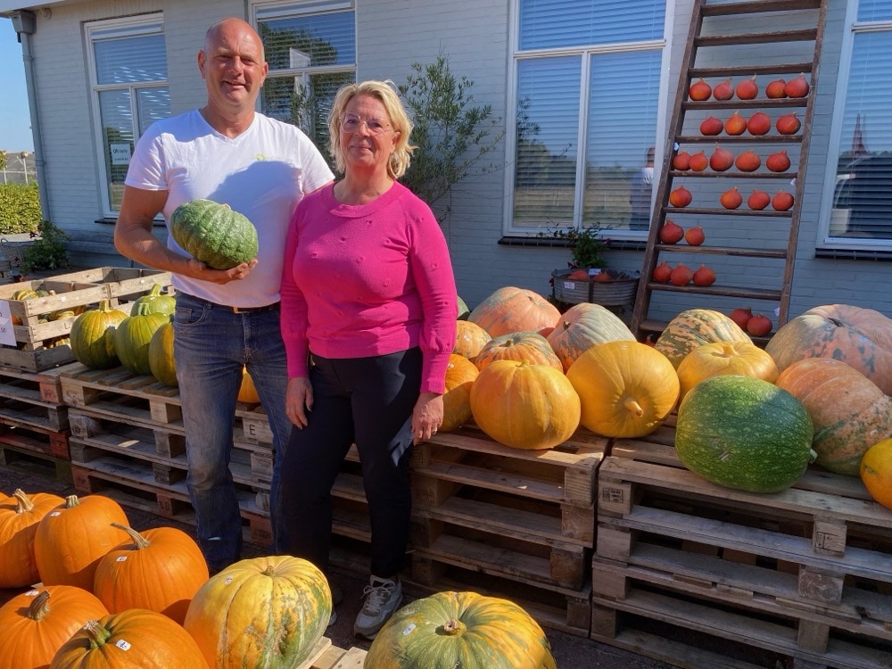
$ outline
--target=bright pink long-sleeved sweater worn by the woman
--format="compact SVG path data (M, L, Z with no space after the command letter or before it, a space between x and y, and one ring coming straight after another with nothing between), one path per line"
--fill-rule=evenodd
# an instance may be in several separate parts
M430 208L394 183L374 202L305 196L285 243L282 336L288 377L307 353L365 358L420 346L421 392L443 392L458 299L449 249Z

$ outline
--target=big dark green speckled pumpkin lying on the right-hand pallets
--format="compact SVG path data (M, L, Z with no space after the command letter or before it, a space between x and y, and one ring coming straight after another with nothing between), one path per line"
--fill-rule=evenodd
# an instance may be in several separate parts
M711 483L780 492L814 459L813 430L802 402L778 386L751 376L713 376L681 401L675 452Z

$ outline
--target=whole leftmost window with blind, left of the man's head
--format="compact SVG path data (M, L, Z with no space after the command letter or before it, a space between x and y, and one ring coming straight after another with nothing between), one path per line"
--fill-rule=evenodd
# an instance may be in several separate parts
M154 121L170 115L161 16L87 24L103 215L120 210L130 155Z

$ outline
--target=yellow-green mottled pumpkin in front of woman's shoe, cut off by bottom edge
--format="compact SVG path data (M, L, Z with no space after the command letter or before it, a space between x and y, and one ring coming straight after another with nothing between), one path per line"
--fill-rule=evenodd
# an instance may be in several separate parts
M394 613L368 648L367 669L557 669L549 640L508 599L437 592Z

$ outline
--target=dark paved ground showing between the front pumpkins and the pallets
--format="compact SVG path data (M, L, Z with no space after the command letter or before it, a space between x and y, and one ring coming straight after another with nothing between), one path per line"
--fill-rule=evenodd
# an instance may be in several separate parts
M62 483L58 479L49 478L43 472L29 473L19 469L12 470L0 466L0 491L12 494L16 488L26 492L43 491L53 492L58 495L74 494L74 488ZM178 526L187 533L192 533L194 528L190 525L179 524L169 518L156 516L136 508L125 508L130 524L137 530L145 530L160 525ZM261 555L263 548L255 544L247 544L244 549L244 558ZM339 572L336 574L338 582L344 592L343 603L337 607L338 620L326 632L326 636L339 648L368 648L369 641L353 636L353 620L362 605L362 589L366 582L355 574ZM0 604L19 591L0 590ZM406 592L405 601L414 599L419 593L411 590ZM596 641L547 630L551 642L555 660L561 669L672 669L672 665L651 660L625 651L621 648L613 648Z

